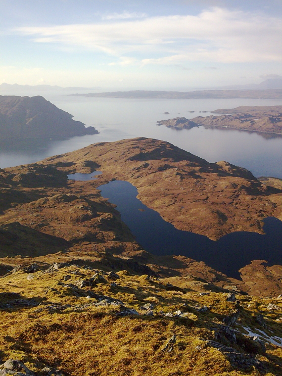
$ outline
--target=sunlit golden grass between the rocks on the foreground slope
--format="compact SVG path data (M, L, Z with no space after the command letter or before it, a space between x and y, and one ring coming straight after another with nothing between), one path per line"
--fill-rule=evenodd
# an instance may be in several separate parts
M94 271L70 266L53 273L36 272L32 280L27 280L27 274L21 271L2 278L0 304L9 301L4 297L6 295L1 294L3 292L15 292L25 299L33 298L41 303L39 307L1 310L2 360L21 360L38 375L46 365L72 376L262 375L254 368L248 373L235 370L225 355L200 339L213 339L210 328L214 323L221 323L222 318L236 308L235 303L226 301L226 295L212 292L200 296L198 291L189 287L189 281L193 282L190 279L187 279L182 293L167 291L162 280L150 281L146 276L133 276L125 271L118 273L117 286L111 286L114 281L106 277L108 283L84 288L85 295L91 289L97 294L120 299L127 307L139 312L142 312L140 308L143 304L151 302L155 312L181 309L189 313L188 319L159 315L118 317L119 307L83 307L96 300L74 296L71 289L60 284L66 275L71 278L63 283L69 284L90 278L93 274ZM237 297L241 306L251 300L250 297ZM268 301L274 302L274 299L252 299L267 316L269 328L275 335L282 336L281 324L275 321L279 313L271 313L265 308ZM187 306L183 306L184 303ZM70 304L71 307L52 313L46 309L36 312L51 304ZM201 314L193 308L196 305L214 308ZM254 328L256 312L251 308L241 309L239 324ZM173 333L177 336L173 350L163 351ZM236 348L239 349L238 346ZM282 376L282 348L267 345L267 355L262 359L268 367L268 376Z

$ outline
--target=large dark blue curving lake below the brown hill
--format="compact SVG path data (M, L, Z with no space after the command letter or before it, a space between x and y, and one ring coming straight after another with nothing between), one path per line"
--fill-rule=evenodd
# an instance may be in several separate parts
M213 241L203 235L177 230L165 222L136 198L137 188L128 182L113 181L99 189L103 197L117 205L122 221L150 253L191 257L234 278L239 277L237 271L251 260L282 264L282 222L277 218L264 220L266 235L237 232Z

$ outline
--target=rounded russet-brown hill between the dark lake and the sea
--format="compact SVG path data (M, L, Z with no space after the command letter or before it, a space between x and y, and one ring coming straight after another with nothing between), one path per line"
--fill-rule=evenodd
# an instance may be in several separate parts
M41 163L69 173L90 173L95 163L100 182L129 181L138 198L177 229L214 240L235 231L263 234L265 217L282 219L281 190L267 188L244 168L209 163L165 141L100 142Z

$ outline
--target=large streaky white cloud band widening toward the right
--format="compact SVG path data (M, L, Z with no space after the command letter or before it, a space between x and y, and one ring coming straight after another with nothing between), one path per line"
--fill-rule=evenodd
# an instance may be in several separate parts
M21 27L14 32L31 36L37 43L102 51L121 58L120 64L123 65L136 63L137 59L141 65L282 60L282 22L279 17L217 7L196 16L117 21L121 15L129 18L130 14L134 13L108 15L112 18L107 19L116 20L114 22Z

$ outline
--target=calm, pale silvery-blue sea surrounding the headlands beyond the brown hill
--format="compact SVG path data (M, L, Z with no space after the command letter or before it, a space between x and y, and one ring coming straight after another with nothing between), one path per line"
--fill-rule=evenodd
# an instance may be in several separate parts
M267 139L256 133L235 130L198 127L177 131L156 126L156 121L176 116L192 118L209 115L198 111L213 111L240 105L281 105L282 100L120 99L73 97L50 92L42 94L59 108L74 115L75 120L96 127L100 134L74 137L65 141L50 140L40 145L14 145L12 149L8 145L2 145L1 168L33 163L47 156L73 151L95 142L149 137L169 141L209 162L226 160L247 168L255 176L282 178L281 137ZM196 113L191 114L188 111ZM163 112L170 113L166 115Z

